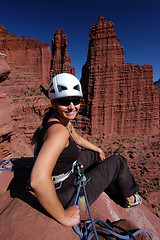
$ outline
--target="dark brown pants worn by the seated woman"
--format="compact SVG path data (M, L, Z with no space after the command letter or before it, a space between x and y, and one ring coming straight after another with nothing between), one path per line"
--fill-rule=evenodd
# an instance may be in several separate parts
M90 178L85 185L90 205L111 184L116 186L119 195L124 198L130 197L139 190L139 185L135 182L124 158L121 156L113 155L102 162L96 152L83 150L80 153L78 162L83 164L85 175ZM67 181L68 184L65 184L65 188L63 189L62 186L62 189L57 191L59 200L64 207L74 204L77 192L76 177L74 174Z

